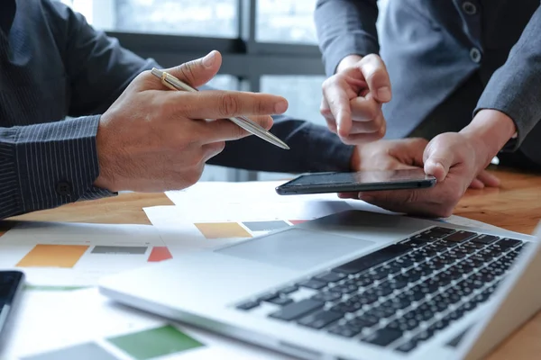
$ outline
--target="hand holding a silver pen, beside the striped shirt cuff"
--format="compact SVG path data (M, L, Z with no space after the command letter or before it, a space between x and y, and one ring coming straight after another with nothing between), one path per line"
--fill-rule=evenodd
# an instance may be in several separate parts
M166 71L200 86L215 76L221 63L220 53L213 51ZM95 184L114 192L186 188L197 182L206 161L224 149L225 141L249 135L225 118L252 115L270 129L270 115L287 107L284 98L271 94L171 91L145 71L101 116Z

